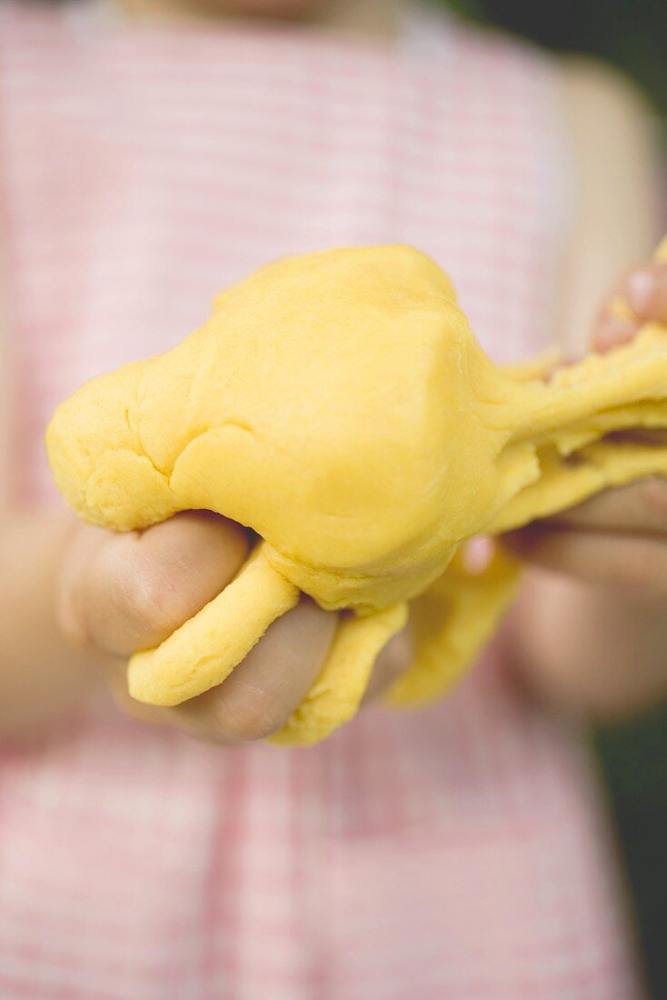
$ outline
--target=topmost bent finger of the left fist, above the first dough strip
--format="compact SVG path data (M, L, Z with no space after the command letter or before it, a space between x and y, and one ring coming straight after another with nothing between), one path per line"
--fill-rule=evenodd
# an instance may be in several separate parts
M204 511L141 534L102 534L80 543L63 603L73 631L114 656L171 635L234 578L249 546L242 528Z

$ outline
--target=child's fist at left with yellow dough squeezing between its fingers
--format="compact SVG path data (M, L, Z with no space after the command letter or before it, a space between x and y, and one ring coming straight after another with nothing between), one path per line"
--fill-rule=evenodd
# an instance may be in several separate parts
M125 660L162 642L234 577L249 542L215 514L187 512L141 534L110 535L79 526L60 579L58 612L70 642L100 655L117 700L146 721L173 724L223 744L258 740L280 729L317 677L337 615L309 600L280 618L217 688L175 708L154 708L127 694ZM379 658L368 696L408 666L405 636Z

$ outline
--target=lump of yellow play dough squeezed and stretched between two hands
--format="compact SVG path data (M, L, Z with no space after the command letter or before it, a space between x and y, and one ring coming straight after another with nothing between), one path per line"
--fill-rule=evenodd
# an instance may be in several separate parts
M405 246L278 261L224 292L178 347L84 385L47 447L78 514L118 531L206 508L260 542L236 579L157 649L130 693L176 705L224 681L304 591L341 618L313 689L276 738L351 718L379 650L410 617L395 704L444 691L493 632L518 566L466 572L461 545L667 473L667 330L562 368L500 369L452 286Z

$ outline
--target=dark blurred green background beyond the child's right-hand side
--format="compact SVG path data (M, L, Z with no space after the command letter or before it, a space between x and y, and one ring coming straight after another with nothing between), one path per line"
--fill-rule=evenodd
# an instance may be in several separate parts
M666 0L451 0L465 17L562 52L606 59L640 83L667 134ZM667 144L665 158L667 187ZM666 226L667 228L667 226ZM666 611L667 613L667 611ZM667 659L667 650L665 650ZM593 735L629 875L651 996L667 998L667 707Z

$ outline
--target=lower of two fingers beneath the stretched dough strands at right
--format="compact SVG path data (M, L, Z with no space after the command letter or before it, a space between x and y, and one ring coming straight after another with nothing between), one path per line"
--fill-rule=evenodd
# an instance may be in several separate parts
M503 540L519 558L552 572L667 596L667 544L653 538L535 524Z

